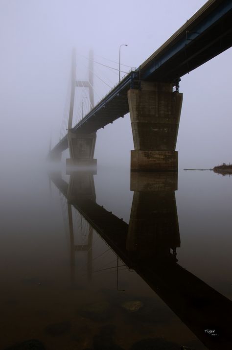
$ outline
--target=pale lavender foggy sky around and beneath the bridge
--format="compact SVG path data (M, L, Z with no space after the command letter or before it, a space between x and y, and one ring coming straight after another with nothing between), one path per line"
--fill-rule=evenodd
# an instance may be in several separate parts
M205 2L1 0L1 163L42 159L50 133L53 145L59 140L72 47L81 79L87 69L78 55L88 56L90 48L95 59L109 64L99 56L118 62L119 45L128 44L121 49L121 61L138 67ZM231 62L229 49L182 77L180 168L232 162ZM117 74L96 65L94 70L117 82ZM100 95L109 90L96 78L94 86ZM128 165L131 149L129 115L97 132L98 164Z

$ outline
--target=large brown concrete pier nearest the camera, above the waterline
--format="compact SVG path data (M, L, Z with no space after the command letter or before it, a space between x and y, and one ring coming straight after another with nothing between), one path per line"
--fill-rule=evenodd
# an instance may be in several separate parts
M131 170L178 169L175 151L181 115L182 93L172 83L141 81L141 89L128 91L135 150Z

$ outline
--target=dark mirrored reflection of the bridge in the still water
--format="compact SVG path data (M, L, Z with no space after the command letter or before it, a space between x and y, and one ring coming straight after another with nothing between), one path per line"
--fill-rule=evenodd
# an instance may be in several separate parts
M231 349L231 301L177 263L176 172L131 173L129 225L96 203L93 172L72 172L69 184L59 173L50 174L50 179L68 200L72 276L74 252L86 249L91 278L94 229L208 349ZM88 242L82 248L74 244L71 206L89 224Z

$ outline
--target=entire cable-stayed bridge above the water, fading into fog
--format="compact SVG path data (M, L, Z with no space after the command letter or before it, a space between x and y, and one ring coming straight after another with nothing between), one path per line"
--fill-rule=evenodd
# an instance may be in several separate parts
M137 69L131 70L96 105L93 94L93 53L89 81L76 79L75 54L68 133L51 149L60 160L70 150L67 164L96 164L96 132L130 113L135 150L131 170L178 169L176 141L183 93L180 78L232 46L232 0L209 0ZM91 110L72 126L75 88L89 89Z

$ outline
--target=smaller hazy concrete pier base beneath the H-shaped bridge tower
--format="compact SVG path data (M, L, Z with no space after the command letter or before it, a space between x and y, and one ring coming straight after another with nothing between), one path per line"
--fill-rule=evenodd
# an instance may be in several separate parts
M67 166L96 166L96 159L93 159L96 142L96 133L93 134L74 134L68 133L68 143L70 150L70 159L66 160Z

